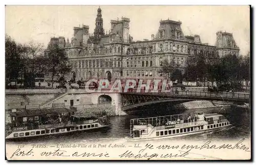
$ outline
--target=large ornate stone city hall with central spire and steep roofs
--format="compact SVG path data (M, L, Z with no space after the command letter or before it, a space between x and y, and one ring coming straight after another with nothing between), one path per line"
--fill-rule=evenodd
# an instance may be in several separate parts
M133 41L130 35L130 19L111 20L111 30L103 29L101 9L97 10L95 29L89 34L89 26L74 27L71 40L51 38L49 44L64 46L72 65L67 79L90 78L160 78L159 69L165 59L179 63L180 69L190 56L204 52L209 58L226 54L239 54L239 47L231 33L217 32L215 46L201 43L200 36L185 36L181 21L161 20L151 40Z

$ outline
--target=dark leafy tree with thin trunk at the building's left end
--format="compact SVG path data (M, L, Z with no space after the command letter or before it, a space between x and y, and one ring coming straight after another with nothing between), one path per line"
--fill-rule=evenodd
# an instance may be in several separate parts
M64 75L71 71L71 66L68 64L68 56L65 49L58 45L50 46L47 50L46 57L46 72L51 75L52 87L55 76Z

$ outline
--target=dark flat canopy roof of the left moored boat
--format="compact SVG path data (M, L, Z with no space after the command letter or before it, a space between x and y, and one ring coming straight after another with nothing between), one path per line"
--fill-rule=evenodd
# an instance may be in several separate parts
M59 114L59 113L71 113L75 112L75 109L69 109L66 107L52 107L52 108L42 108L42 109L27 109L27 110L17 110L16 113L12 113L11 116L16 117L27 117L27 116L40 116L47 114Z

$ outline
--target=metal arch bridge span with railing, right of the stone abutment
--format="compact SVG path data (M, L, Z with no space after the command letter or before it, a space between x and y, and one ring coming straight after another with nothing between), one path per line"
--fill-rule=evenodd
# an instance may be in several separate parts
M236 101L241 103L250 103L250 94L248 93L229 93L229 92L203 92L203 91L175 91L170 93L151 93L136 91L122 92L121 93L121 109L127 109L148 105L159 102L174 102L183 103L193 100L219 100L219 101Z

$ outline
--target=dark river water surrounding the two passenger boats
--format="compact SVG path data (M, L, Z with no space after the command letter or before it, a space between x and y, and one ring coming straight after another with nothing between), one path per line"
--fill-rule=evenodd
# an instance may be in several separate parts
M157 105L158 109L160 105ZM163 106L163 105L161 105ZM156 108L152 106L152 108ZM148 107L149 108L149 107ZM162 108L161 108L162 109ZM151 109L152 110L152 109ZM156 110L156 109L155 109ZM205 113L219 113L230 119L233 124L230 128L224 128L218 131L212 131L208 133L185 135L180 137L173 137L172 140L192 140L192 141L221 141L221 140L241 140L243 138L250 139L250 110L244 108L232 107L232 108L204 108L204 109L190 109L179 112L172 111L167 114L181 114L181 113L193 113L193 112L205 112ZM168 111L170 112L170 111ZM166 113L163 115L167 115ZM126 115L111 117L112 127L103 130L92 130L85 132L75 132L71 134L62 134L55 136L37 137L35 139L26 140L23 142L7 142L7 144L34 144L34 143L80 143L80 142L101 142L101 141L125 141L124 137L130 133L130 119L139 117L152 117L154 115ZM168 141L165 139L162 141Z

